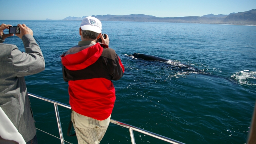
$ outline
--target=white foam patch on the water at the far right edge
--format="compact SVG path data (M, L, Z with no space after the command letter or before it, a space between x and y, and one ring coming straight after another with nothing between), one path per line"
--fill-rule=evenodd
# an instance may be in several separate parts
M256 86L255 80L256 79L256 72L243 70L240 72L236 72L232 76L231 79L237 81L241 85L254 85Z

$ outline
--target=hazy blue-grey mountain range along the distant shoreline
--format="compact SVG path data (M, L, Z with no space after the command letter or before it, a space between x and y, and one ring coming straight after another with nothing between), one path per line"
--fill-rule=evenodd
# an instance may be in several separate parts
M212 23L256 25L256 10L225 14L207 14L203 16L156 17L145 14L130 15L92 15L102 21L147 21L147 22L182 22L182 23ZM82 20L84 17L66 17L63 20ZM48 19L49 20L49 19Z

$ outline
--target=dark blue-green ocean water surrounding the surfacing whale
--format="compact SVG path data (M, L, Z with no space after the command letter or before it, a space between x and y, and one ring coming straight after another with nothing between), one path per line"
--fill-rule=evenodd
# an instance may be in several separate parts
M46 69L26 76L28 92L69 104L60 55L80 41L81 21L7 21L33 30ZM125 67L113 81L116 101L112 119L187 144L244 144L256 98L256 27L193 23L102 21L102 32ZM5 31L8 33L8 31ZM24 51L18 37L5 43ZM144 53L170 59L145 61ZM52 103L30 98L36 127L59 136ZM70 110L60 107L64 139ZM134 131L137 144L165 144ZM40 144L60 140L37 131ZM131 143L126 128L110 124L102 144Z

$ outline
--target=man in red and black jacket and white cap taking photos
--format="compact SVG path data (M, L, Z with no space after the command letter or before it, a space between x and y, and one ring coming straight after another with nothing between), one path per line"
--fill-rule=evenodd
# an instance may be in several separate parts
M88 16L79 28L81 41L61 55L63 78L69 84L72 122L79 144L99 144L110 122L115 102L112 80L123 76L124 66L101 35L101 22ZM102 43L96 43L101 38Z

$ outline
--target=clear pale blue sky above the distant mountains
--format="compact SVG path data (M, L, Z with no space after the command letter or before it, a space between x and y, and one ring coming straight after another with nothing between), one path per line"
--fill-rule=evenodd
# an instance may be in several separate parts
M61 20L68 16L106 14L179 17L256 9L256 0L0 0L0 3L0 20Z

